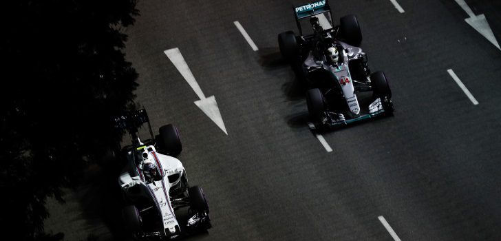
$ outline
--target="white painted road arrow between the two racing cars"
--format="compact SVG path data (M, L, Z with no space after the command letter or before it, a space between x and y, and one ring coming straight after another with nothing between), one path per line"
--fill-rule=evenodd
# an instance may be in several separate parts
M191 89L193 89L195 94L197 94L198 98L200 98L200 101L195 101L195 105L197 105L200 109L202 109L202 112L204 112L204 114L209 116L209 118L211 118L211 120L218 127L222 129L224 134L228 135L228 132L226 132L226 127L224 126L220 110L217 107L217 103L215 102L215 97L214 96L209 96L207 98L205 97L204 92L202 92L202 89L200 89L200 86L195 80L195 76L193 76L193 74L191 73L191 70L188 67L188 64L186 64L186 61L184 61L184 58L182 57L182 54L179 51L179 49L172 48L170 50L165 50L164 54L167 55L167 57L174 64L175 68L178 69L178 71L184 77L184 80L188 82Z

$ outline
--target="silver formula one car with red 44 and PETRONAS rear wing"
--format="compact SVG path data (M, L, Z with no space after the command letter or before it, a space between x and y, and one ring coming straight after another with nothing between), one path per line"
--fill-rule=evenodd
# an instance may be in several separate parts
M342 17L341 24L334 25L326 0L294 11L299 36L282 32L278 42L292 70L308 83L308 112L317 129L391 115L390 86L383 72L371 74L367 67L367 56L359 48L362 34L356 17ZM365 106L359 99L361 92L372 92Z

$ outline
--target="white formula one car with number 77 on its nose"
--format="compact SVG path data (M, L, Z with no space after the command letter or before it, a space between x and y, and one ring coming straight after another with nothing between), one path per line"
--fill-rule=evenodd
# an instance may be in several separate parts
M151 139L138 137L142 123L148 123ZM204 191L189 187L186 171L174 157L182 150L178 128L164 125L153 137L145 109L116 118L116 125L127 129L133 142L123 148L127 164L119 183L127 203L123 218L134 239L170 239L211 228Z

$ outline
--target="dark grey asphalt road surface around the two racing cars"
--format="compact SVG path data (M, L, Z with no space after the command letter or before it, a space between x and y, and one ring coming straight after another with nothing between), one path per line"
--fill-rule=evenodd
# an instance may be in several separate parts
M211 207L213 229L189 240L501 240L501 50L454 0L397 1L405 12L390 0L331 1L337 21L357 15L396 112L323 134L330 152L308 128L306 89L278 49L304 1L140 1L125 50L140 73L137 101L153 129L178 125L179 158ZM466 3L501 41L501 2ZM215 96L227 135L193 103L171 48ZM47 231L124 238L107 189L116 176L102 169L67 205L50 203Z

